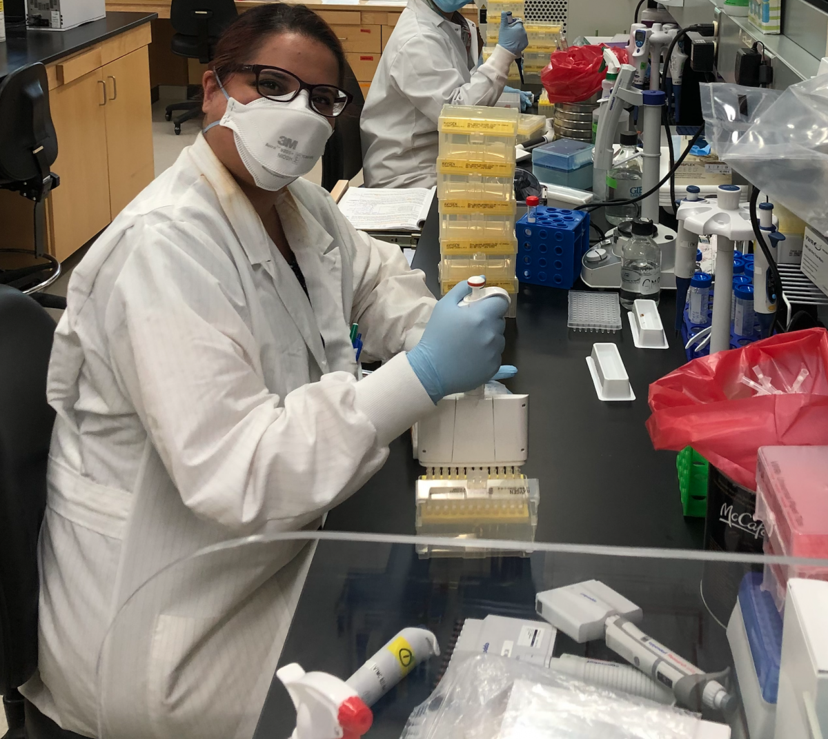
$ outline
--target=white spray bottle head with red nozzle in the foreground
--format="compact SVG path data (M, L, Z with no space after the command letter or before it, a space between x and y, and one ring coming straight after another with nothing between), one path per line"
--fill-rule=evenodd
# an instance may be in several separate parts
M277 669L276 676L296 707L291 739L359 739L371 728L371 709L334 675L306 672L293 662Z

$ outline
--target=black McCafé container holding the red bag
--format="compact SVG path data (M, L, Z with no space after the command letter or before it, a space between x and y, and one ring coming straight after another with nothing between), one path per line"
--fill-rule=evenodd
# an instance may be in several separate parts
M734 482L712 464L707 476L705 549L762 554L765 527L753 518L756 492ZM752 568L735 563L706 562L701 580L705 603L727 624L736 604L739 583Z

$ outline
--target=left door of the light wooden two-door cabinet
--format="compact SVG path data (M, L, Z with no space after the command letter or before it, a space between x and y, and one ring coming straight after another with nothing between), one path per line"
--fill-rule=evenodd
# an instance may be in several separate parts
M49 95L60 175L47 204L49 251L61 262L109 223L106 86L97 69Z

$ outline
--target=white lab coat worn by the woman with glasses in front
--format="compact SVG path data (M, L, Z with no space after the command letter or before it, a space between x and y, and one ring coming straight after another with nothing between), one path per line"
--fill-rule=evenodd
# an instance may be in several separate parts
M435 302L422 273L306 180L277 209L310 302L203 137L72 275L49 368L40 675L23 689L62 727L97 736L100 710L119 737L249 736L306 570L298 547L178 583L197 612L151 607L150 653L109 655L147 669L99 705L114 615L202 547L315 526L433 408L402 353ZM364 354L390 359L359 382L352 321Z

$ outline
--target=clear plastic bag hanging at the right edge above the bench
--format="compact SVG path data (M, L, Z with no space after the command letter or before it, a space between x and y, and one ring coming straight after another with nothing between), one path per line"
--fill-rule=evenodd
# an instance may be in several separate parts
M828 233L828 74L777 90L702 84L719 158L820 233Z

